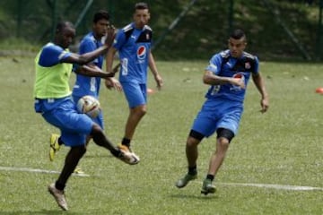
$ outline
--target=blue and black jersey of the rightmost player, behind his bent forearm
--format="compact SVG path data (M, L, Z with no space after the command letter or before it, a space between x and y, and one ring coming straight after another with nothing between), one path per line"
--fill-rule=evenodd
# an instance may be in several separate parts
M215 54L205 70L211 71L222 77L241 78L245 82L247 88L250 74L258 73L258 64L257 56L252 56L247 52L243 52L240 58L235 58L230 55L230 50L225 50ZM229 99L243 103L246 88L241 89L239 86L230 83L214 85L210 87L205 97L207 99Z

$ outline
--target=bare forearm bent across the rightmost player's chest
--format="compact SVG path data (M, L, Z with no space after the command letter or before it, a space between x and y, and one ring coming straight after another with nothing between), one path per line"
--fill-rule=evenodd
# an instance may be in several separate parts
M221 77L208 70L206 70L203 75L203 82L209 85L223 85L231 83L233 85L240 86L240 88L243 89L246 87L245 82L240 78Z

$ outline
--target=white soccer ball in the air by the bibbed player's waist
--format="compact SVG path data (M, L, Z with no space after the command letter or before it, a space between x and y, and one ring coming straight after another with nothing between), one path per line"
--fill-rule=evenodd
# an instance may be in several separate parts
M82 114L95 118L100 114L100 102L92 96L83 96L77 101L77 110Z

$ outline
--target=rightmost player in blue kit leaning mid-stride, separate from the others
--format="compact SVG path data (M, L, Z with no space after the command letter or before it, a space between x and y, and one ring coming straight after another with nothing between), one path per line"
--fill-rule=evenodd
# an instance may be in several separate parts
M266 112L269 99L264 80L258 71L258 57L244 52L246 35L242 30L234 30L228 40L229 49L214 55L205 68L203 82L211 85L205 95L205 103L196 116L188 134L186 156L188 173L176 182L178 188L196 179L197 145L205 138L217 133L216 150L209 161L209 168L201 193L215 192L214 177L223 164L229 143L238 133L246 85L252 77L261 99L261 112Z

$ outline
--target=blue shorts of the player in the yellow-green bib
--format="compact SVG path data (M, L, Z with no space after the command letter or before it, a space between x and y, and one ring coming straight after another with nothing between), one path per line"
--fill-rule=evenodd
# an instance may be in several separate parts
M90 116L79 114L72 98L36 99L35 110L61 131L66 146L84 145L94 123Z

